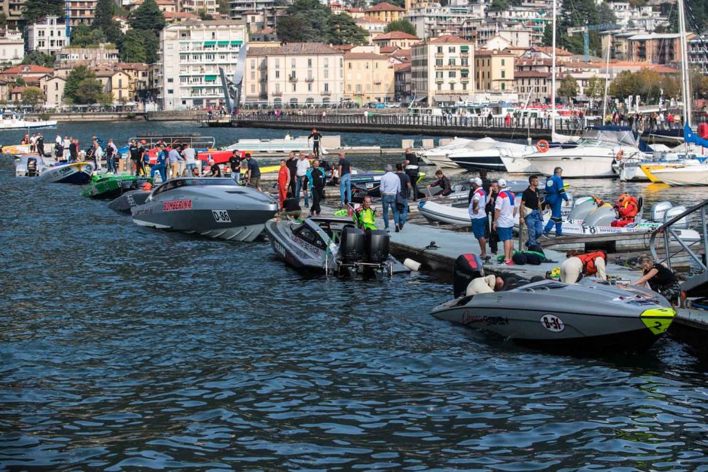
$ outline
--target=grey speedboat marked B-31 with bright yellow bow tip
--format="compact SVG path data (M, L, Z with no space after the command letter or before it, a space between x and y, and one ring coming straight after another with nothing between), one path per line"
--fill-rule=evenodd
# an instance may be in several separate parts
M596 278L508 283L508 289L463 296L431 315L523 345L593 352L641 352L666 333L675 315L656 292ZM513 285L516 285L513 287Z

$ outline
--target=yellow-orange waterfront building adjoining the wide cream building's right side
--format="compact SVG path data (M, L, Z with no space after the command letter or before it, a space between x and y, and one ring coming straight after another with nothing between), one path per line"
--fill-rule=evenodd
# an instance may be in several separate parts
M394 99L394 67L389 58L373 52L344 54L344 100L360 105Z

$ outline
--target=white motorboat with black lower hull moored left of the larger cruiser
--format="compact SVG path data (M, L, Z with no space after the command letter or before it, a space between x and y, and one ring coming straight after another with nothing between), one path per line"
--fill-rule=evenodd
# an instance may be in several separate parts
M534 146L511 142L496 142L486 149L459 149L447 155L447 159L472 171L501 171L508 173L535 172L532 164L524 158L536 151Z

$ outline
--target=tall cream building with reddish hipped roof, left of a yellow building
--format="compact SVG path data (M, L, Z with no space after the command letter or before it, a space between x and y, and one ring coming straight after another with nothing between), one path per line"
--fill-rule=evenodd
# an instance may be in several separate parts
M459 96L474 93L473 59L472 43L453 35L413 45L411 92L428 106L457 103Z

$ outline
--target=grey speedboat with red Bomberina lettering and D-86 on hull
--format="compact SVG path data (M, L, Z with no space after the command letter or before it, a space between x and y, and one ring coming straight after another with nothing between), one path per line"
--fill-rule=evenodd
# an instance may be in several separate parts
M133 223L229 241L255 240L278 204L231 178L176 178L131 207Z

